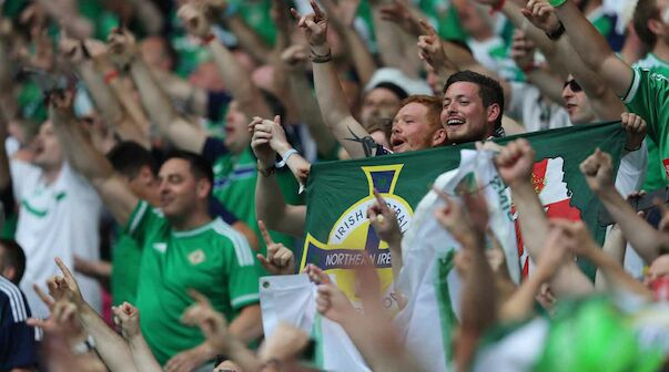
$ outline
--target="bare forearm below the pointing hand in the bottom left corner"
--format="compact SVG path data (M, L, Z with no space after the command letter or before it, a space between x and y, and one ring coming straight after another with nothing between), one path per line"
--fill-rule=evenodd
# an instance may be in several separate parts
M93 308L83 302L79 317L87 332L95 340L100 358L111 371L138 371L128 343L107 326Z

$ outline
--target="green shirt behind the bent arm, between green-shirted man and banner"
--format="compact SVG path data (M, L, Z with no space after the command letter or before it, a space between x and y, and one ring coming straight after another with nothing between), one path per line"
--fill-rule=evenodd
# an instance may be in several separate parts
M255 184L257 178L256 159L251 146L240 155L227 154L214 162L214 190L216 197L227 210L253 229L260 240L260 251L265 254L266 246L257 227L255 217ZM298 204L297 182L285 168L277 172L278 184L287 204ZM275 242L293 248L294 239L276 231L270 231Z

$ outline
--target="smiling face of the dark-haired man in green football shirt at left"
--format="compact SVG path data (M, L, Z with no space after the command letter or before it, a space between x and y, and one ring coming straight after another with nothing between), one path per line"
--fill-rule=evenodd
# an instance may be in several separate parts
M158 178L160 208L166 218L185 219L203 203L206 204L209 189L202 184L206 183L206 179L196 179L187 161L166 161L160 168Z

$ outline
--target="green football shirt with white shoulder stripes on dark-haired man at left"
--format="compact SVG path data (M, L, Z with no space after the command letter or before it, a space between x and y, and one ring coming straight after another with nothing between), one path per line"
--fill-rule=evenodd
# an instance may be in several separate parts
M143 250L136 307L144 338L161 364L204 340L199 329L180 321L194 302L187 289L204 294L227 321L259 301L260 265L246 239L220 218L173 231L160 210L140 202L125 229Z

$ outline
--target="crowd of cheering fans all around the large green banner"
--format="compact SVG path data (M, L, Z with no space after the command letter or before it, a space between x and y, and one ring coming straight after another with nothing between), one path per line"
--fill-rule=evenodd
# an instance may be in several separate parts
M510 282L486 255L483 196L462 207L440 194L435 218L463 246L453 369L669 368L666 200L641 213L626 200L667 186L669 1L1 7L1 371L313 370L308 334L263 337L259 304L260 277L297 273L311 164L470 142L497 153L536 265ZM582 223L546 217L528 142L494 142L605 121L626 133L617 174L600 151L580 166L616 221L602 248ZM367 217L397 277L402 232L376 197ZM320 268L305 272L372 370L425 370L367 260L362 310ZM574 298L585 304L559 311ZM549 339L528 364L524 350L486 353L500 328L538 321L580 335Z

